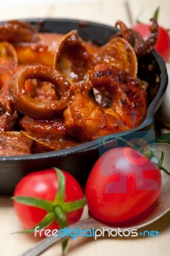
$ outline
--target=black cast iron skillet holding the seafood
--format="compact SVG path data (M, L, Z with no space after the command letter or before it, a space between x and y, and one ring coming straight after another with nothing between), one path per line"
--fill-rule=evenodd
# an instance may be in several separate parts
M80 22L79 20L34 19L26 21L31 22L31 24L40 22L40 32L68 33L72 29L77 29L84 40L91 40L91 42L98 45L105 44L118 31L116 28L104 24ZM152 69L150 65L152 65ZM153 51L139 60L138 76L150 84L148 88L149 107L146 119L143 124L135 129L114 134L114 136L122 137L149 129L153 124L155 112L162 102L162 97L167 87L167 71L166 65L157 51ZM101 147L103 147L103 140L94 140L56 152L0 157L0 194L12 195L17 182L24 175L53 166L72 173L79 182L85 182L91 167L99 156Z

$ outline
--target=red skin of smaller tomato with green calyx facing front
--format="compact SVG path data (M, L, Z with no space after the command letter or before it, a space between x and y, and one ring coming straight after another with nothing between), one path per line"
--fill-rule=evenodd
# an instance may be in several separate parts
M75 200L83 198L82 189L77 180L75 180L70 173L62 172L65 176L65 202L74 202ZM54 201L57 191L58 176L54 170L50 169L34 172L24 177L20 180L19 184L17 184L14 196L31 196ZM43 209L20 204L15 200L13 201L13 205L20 222L25 228L35 227L47 214ZM66 214L68 224L78 221L79 218L81 218L82 211L83 207L76 211L68 212ZM47 228L53 230L56 228L59 229L59 226L58 223L54 221Z

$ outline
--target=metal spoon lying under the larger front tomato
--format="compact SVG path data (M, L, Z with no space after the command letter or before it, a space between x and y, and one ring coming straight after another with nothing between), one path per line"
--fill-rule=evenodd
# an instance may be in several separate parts
M169 170L170 166L170 145L164 143L157 144L157 154L160 157L161 152L164 152L164 167ZM98 222L92 216L89 216L86 220L78 221L77 223L73 223L67 227L70 229L86 229L86 228L107 228L109 230L114 230L116 228L124 229L132 229L132 228L143 228L147 225L150 225L154 221L160 219L164 214L170 211L170 177L164 172L162 172L162 190L160 196L158 197L157 202L153 204L147 211L145 211L137 218L134 218L132 221L128 221L128 223L123 223L123 225L116 226L106 226L103 223ZM42 252L45 252L52 244L57 243L59 241L64 241L67 237L61 236L50 236L42 241L38 242L33 248L27 250L20 256L38 256Z

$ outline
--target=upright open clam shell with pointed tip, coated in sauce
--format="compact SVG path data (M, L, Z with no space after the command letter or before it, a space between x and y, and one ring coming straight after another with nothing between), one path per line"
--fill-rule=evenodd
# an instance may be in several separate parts
M87 78L91 58L77 30L73 30L67 33L58 45L54 68L70 83L83 83Z

